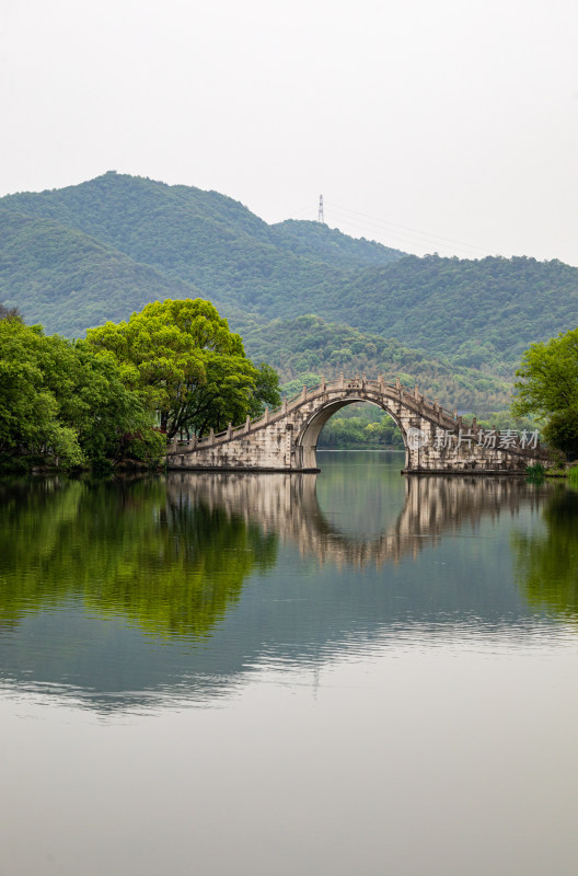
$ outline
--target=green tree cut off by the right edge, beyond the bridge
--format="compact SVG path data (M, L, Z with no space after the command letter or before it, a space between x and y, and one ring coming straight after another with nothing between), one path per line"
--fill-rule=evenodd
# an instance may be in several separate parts
M516 372L516 416L547 418L543 434L554 447L578 453L578 328L532 344Z

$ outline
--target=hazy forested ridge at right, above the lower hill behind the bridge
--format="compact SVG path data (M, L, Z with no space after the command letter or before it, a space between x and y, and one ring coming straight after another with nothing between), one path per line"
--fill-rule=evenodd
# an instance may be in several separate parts
M315 300L326 319L443 353L459 365L515 367L533 341L578 324L578 268L535 258L408 255L366 268Z

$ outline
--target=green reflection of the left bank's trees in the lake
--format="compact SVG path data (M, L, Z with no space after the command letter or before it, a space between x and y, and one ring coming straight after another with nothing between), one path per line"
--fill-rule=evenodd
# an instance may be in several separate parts
M277 539L162 479L2 484L0 623L82 598L155 636L207 636Z

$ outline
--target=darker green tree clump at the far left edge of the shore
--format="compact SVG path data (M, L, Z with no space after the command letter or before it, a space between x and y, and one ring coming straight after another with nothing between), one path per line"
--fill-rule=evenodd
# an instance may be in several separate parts
M130 456L155 461L163 451L109 354L46 336L18 316L0 320L0 410L4 458L58 458L71 468Z

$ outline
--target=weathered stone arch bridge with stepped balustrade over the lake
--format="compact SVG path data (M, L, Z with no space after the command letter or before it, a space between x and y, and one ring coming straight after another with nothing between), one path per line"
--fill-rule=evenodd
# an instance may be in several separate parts
M349 404L369 402L390 414L405 443L406 473L469 472L505 474L524 472L528 465L546 463L540 446L508 435L488 436L476 425L426 400L400 381L362 378L326 382L302 392L281 407L268 410L257 420L229 428L187 443L173 441L166 456L169 469L220 471L314 472L320 433L333 414Z

